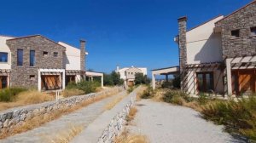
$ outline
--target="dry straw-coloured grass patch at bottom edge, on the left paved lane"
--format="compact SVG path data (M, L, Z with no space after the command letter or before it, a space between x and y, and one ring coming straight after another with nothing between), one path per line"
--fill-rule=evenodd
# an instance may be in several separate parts
M67 130L62 131L61 133L57 134L53 139L48 139L49 140L48 142L68 143L71 140L73 140L73 138L75 136L80 134L83 129L84 128L82 125L69 125L69 127L67 127Z

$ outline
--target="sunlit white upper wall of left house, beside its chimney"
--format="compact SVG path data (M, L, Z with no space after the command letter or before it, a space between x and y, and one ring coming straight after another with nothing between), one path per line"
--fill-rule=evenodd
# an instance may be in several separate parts
M61 43L62 46L66 47L67 57L64 58L66 63L66 70L81 70L80 68L80 49L76 49L67 43Z

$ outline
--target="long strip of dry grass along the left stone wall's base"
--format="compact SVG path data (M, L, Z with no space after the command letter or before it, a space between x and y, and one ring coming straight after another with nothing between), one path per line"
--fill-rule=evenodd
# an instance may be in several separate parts
M104 98L110 97L113 94L116 94L117 91L113 92L102 92L99 95L97 95L94 98L91 98L89 100L84 100L83 102L80 102L79 104L72 106L72 107L67 107L64 109L59 109L54 112L50 112L44 115L38 115L36 117L33 117L32 119L26 120L26 122L22 123L20 126L16 127L15 129L12 130L3 130L3 132L0 134L0 139L4 139L6 137L15 135L15 134L20 134L23 132L26 132L27 130L35 129L43 125L44 123L48 123L52 120L55 120L63 115L67 115L71 112L74 112L84 106L88 106L92 103L95 103L96 101L102 100Z

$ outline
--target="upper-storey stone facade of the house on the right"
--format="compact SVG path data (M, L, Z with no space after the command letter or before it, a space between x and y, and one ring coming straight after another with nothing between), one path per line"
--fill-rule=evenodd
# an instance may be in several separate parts
M251 35L251 27L256 26L256 1L224 17L216 23L221 29L224 58L256 54L256 36ZM239 30L239 37L231 37L231 31Z

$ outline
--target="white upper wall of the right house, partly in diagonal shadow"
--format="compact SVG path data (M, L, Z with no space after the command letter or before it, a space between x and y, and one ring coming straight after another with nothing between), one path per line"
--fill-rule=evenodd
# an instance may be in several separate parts
M219 16L207 23L187 31L187 63L200 64L222 60L221 35L214 34L214 24Z

